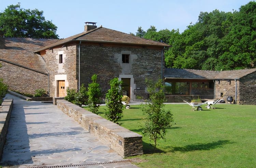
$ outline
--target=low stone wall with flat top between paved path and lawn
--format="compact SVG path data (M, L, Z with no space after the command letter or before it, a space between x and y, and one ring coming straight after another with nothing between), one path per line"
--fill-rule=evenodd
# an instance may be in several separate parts
M141 135L66 100L58 99L57 106L119 155L126 157L143 154Z

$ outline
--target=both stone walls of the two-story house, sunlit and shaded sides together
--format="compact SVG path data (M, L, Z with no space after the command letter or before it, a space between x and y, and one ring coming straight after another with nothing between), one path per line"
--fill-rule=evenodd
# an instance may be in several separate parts
M122 65L115 57L118 54L122 56L124 51L136 55L136 59L130 65L129 73L122 73ZM58 62L59 53L65 54L61 69ZM46 54L42 57L50 75L50 96L57 96L57 80L65 80L66 88L78 90L79 44L46 50ZM82 43L80 45L80 84L84 83L85 87L88 87L91 76L94 74L98 75L97 80L104 94L110 89L110 80L115 77L131 78L132 89L144 91L146 78L161 77L161 50ZM133 98L135 99L135 95Z

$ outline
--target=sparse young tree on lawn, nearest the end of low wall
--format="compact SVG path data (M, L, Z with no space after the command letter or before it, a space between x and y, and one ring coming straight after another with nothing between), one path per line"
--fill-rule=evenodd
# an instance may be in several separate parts
M147 116L145 126L142 133L149 136L154 141L156 147L157 139L165 139L166 128L171 126L173 121L170 111L163 109L165 101L165 93L163 91L162 80L157 82L146 79L147 91L150 94L150 102L147 103L142 111Z

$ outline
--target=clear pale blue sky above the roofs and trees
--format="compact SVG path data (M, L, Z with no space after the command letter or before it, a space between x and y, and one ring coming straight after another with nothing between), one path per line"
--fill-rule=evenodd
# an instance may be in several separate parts
M0 0L0 12L18 2L24 9L44 11L45 19L58 27L59 38L66 38L83 32L87 21L124 33L151 25L183 32L201 11L239 11L250 0Z

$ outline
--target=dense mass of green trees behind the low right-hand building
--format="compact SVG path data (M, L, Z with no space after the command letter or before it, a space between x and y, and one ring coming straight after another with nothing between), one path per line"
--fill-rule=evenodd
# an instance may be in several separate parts
M201 12L198 22L183 33L168 29L147 32L138 28L137 36L164 42L171 47L165 52L167 67L200 70L233 70L254 68L256 64L256 2L240 11Z

